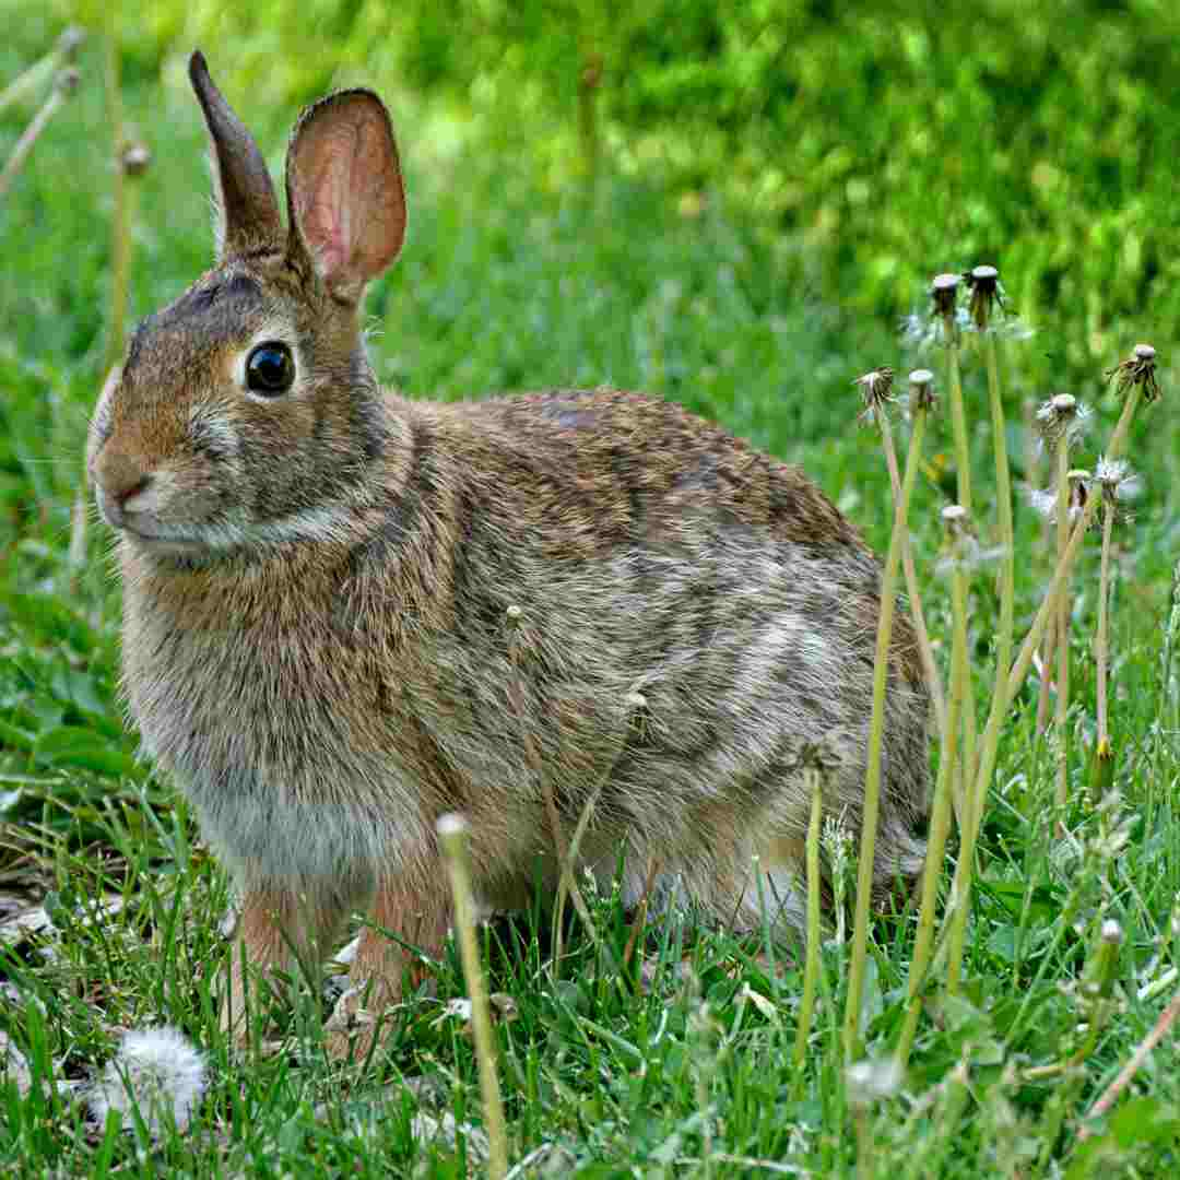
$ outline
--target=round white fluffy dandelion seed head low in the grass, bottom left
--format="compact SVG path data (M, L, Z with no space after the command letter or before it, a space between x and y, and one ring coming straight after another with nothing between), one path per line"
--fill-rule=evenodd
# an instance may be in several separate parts
M90 1113L105 1122L112 1110L138 1112L152 1139L173 1125L184 1130L205 1092L205 1062L170 1024L132 1029L88 1097Z

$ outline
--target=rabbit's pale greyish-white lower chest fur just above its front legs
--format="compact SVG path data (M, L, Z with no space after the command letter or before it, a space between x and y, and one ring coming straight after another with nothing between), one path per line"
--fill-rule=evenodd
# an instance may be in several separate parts
M418 835L414 775L373 702L358 703L371 677L347 653L143 620L124 664L148 752L240 874L366 889Z

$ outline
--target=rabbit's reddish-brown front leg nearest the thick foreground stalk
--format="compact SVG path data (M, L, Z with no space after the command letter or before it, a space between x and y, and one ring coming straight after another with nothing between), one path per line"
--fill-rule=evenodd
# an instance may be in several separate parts
M424 957L435 959L441 953L451 914L440 864L391 873L379 883L349 970L349 988L328 1021L329 1056L362 1061L374 1037L385 1038L392 1024L382 1012L401 999L406 986L417 986L430 974Z

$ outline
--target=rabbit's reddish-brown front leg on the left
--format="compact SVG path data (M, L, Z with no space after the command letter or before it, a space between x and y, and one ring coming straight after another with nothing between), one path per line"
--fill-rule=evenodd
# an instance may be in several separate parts
M330 951L347 914L343 899L309 894L284 885L245 885L231 936L229 982L222 999L222 1028L242 1044L247 1040L247 994L257 996L275 969L296 968L313 974ZM261 1012L254 1001L251 1017Z

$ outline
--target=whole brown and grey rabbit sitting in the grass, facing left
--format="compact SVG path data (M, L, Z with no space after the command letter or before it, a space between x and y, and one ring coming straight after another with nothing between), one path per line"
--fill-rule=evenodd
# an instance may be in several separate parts
M248 972L323 961L360 911L328 1048L363 1042L445 945L450 812L486 907L555 887L551 820L569 839L589 808L576 867L610 883L622 863L625 903L650 886L736 930L769 904L796 930L806 746L830 759L826 814L859 828L874 555L798 468L673 402L382 391L360 308L406 203L381 100L302 113L284 227L199 51L189 74L217 262L138 326L87 470L130 715L240 896L228 1027ZM883 894L925 850L929 691L903 614L885 714Z

